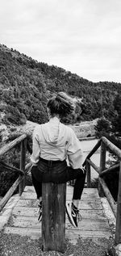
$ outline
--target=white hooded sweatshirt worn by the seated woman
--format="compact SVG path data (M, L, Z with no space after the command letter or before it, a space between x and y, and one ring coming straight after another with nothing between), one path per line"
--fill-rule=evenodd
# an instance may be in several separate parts
M69 160L73 169L81 168L83 153L81 142L73 132L73 129L60 123L57 117L53 117L46 124L35 127L33 132L31 162L37 165L40 157L52 161Z

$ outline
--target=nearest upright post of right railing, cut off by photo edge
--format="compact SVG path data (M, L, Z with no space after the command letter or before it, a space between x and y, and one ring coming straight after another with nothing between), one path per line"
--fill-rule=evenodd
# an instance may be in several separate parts
M119 167L119 191L118 191L118 204L115 228L115 243L121 243L121 162Z

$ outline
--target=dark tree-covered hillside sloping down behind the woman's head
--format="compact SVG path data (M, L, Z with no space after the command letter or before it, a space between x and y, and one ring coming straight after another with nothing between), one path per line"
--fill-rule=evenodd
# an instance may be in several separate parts
M121 84L90 82L75 73L33 60L25 54L0 44L0 113L4 124L24 124L26 120L47 120L46 103L52 94L64 90L77 103L72 123L114 115L114 99ZM69 122L69 120L67 120Z

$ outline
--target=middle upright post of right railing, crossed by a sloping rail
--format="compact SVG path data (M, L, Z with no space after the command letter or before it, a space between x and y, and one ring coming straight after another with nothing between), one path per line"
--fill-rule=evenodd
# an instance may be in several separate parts
M100 173L105 170L106 166L106 145L104 142L101 142L101 153L100 153ZM103 197L104 192L102 190L101 184L98 182L98 194Z

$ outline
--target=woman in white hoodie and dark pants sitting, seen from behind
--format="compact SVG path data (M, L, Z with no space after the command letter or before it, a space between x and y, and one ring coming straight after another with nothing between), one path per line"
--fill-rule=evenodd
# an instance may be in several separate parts
M32 182L40 200L39 220L42 216L42 182L66 183L75 179L73 201L71 206L66 205L66 212L70 222L77 227L78 204L85 184L86 171L82 168L83 153L80 141L72 128L60 122L61 118L73 112L73 99L60 92L49 99L47 109L49 122L35 127L31 154Z

